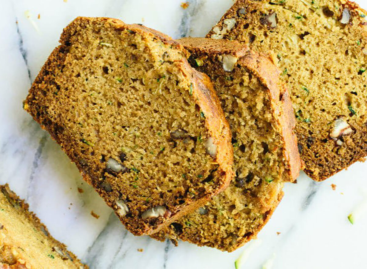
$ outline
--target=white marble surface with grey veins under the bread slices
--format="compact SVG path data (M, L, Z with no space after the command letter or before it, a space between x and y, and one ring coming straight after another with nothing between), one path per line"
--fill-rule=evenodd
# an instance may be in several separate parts
M116 17L173 37L203 36L232 3L190 0L183 10L176 0L0 0L0 183L9 183L51 234L91 268L234 268L251 245L225 253L132 236L22 110L31 82L62 28L77 16ZM360 5L366 8L367 1ZM367 268L367 212L361 206L366 171L367 162L356 163L321 183L302 173L297 184L286 184L283 201L242 268ZM360 214L351 225L347 216L354 211Z

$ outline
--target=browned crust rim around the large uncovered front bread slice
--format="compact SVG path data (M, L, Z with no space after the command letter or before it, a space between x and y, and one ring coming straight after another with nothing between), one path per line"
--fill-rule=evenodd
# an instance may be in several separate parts
M218 184L215 186L212 192L206 192L203 196L199 198L195 197L195 200L190 200L188 198L186 199L185 204L180 204L175 208L170 208L170 216L167 216L167 218L159 218L159 221L153 224L148 222L147 220L143 220L142 218L131 221L131 218L119 216L121 222L123 222L127 229L135 235L152 234L166 227L172 221L180 218L185 214L188 214L188 212L191 212L195 208L206 203L213 195L219 193L228 186L230 180L233 178L233 154L232 144L230 144L229 126L226 122L218 100L215 97L215 93L212 89L210 81L206 78L205 75L197 73L190 67L185 58L188 53L185 49L183 49L181 44L171 40L170 37L163 35L155 30L145 28L141 25L124 24L117 19L80 17L75 19L72 24L78 24L79 22L84 23L85 21L97 21L105 24L110 24L115 29L120 31L128 30L134 33L139 33L143 36L143 39L148 39L148 37L159 39L165 44L171 46L171 48L178 50L183 57L182 60L175 61L175 64L180 69L180 72L182 72L182 74L186 76L188 80L192 81L192 96L194 101L197 103L197 105L199 105L201 110L205 110L204 112L208 113L205 118L206 127L208 129L208 132L213 135L214 144L217 144L218 154L215 162L219 165L219 170L222 171L220 177L218 177ZM69 40L75 34L75 32L73 31L74 30L72 27L70 27L70 25L64 29L60 38L61 45L51 53L47 62L41 69L39 75L34 80L32 88L29 91L29 96L25 101L24 108L33 116L34 120L39 122L41 127L46 129L51 134L52 138L62 146L63 150L66 152L69 158L77 165L80 173L83 176L83 179L95 187L95 189L105 199L106 203L110 207L117 210L115 206L116 197L112 197L108 193L103 192L103 190L99 188L98 180L95 179L94 175L92 175L93 170L98 168L86 168L83 163L80 163L80 159L77 156L77 150L73 148L72 143L69 143L69 141L72 140L70 138L70 134L65 134L65 132L61 131L63 129L66 129L66 127L59 126L59 123L52 122L53 119L46 114L43 114L42 117L40 117L39 115L42 107L39 107L37 105L37 99L42 98L43 92L46 92L47 87L49 87L48 85L52 85L52 83L54 83L54 70L63 68L65 57L68 54L68 46L70 46ZM216 126L213 126L214 124Z

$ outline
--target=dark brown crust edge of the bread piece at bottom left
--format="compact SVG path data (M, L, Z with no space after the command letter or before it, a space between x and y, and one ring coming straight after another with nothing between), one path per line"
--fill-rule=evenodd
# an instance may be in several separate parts
M84 266L84 268L89 268L87 265L84 265L72 252L68 251L65 244L57 241L54 237L51 236L51 234L47 230L47 227L40 221L39 218L37 218L36 214L34 214L32 211L29 211L29 205L24 200L19 198L17 194L14 193L14 191L10 190L8 184L0 185L0 191L6 196L11 204L14 203L16 205L19 205L19 210L21 210L23 214L27 216L30 222L32 222L33 226L36 227L40 233L43 233L49 240L51 240L53 244L61 248L63 252L67 252L68 255L73 259L73 262L79 262L80 265ZM56 251L55 255L58 255ZM1 266L3 265L0 263L0 268ZM19 264L19 266L21 266L21 264ZM10 266L9 268L12 267Z

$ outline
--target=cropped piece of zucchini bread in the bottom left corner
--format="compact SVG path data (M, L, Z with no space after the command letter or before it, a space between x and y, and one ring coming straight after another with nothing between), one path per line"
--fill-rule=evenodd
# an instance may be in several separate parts
M48 233L28 204L0 186L0 268L88 268Z

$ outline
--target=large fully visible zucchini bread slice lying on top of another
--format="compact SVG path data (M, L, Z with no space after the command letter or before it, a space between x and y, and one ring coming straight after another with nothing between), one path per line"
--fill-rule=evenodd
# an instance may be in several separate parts
M24 108L130 232L156 232L228 186L228 122L180 44L110 18L76 18L60 42Z

